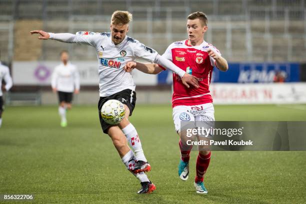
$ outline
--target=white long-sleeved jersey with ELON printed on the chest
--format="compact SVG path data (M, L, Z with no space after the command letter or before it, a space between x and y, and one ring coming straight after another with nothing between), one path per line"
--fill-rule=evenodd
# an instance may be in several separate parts
M135 90L132 75L126 72L123 67L128 61L136 57L143 58L150 62L160 60L161 56L153 49L145 46L139 41L125 36L119 44L114 44L109 32L88 32L79 31L76 34L70 33L49 33L50 39L70 43L83 43L91 45L96 50L98 59L99 92L100 96L108 96L124 89ZM159 58L160 57L160 58ZM162 57L164 59L164 57ZM168 61L164 59L165 61ZM162 60L164 62L164 60ZM174 64L167 64L166 68L179 70ZM177 69L176 69L177 68ZM180 75L183 75L180 72Z

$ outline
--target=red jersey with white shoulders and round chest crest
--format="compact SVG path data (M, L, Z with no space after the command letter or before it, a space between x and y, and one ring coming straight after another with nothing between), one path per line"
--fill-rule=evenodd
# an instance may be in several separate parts
M212 102L209 84L215 60L208 55L207 49L213 49L218 54L220 52L212 44L208 44L205 41L196 46L188 45L187 42L188 40L173 42L162 56L171 60L176 66L187 73L197 77L199 87L190 86L187 88L181 82L181 78L173 73L172 107Z

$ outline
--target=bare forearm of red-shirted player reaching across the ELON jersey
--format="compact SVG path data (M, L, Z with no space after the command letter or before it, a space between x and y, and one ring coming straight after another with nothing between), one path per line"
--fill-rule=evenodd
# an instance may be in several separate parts
M131 72L134 68L148 74L158 74L162 68L155 63L141 63L138 61L128 61L123 67L126 72Z

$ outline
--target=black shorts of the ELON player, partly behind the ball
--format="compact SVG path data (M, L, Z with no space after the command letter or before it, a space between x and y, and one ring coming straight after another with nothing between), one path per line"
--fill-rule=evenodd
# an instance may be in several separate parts
M105 122L102 117L101 117L101 108L103 104L110 99L116 99L122 102L123 104L127 105L129 109L129 116L132 114L133 109L135 107L136 103L136 92L131 90L131 89L124 89L121 90L120 92L114 93L112 95L108 95L105 97L100 97L99 102L98 102L98 112L99 112L99 119L100 119L100 124L102 127L102 130L105 134L107 134L108 128L112 126L113 124L108 124Z

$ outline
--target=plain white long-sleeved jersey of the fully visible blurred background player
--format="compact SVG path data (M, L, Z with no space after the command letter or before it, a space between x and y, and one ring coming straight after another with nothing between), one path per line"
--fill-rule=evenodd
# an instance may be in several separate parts
M67 62L55 66L51 79L52 88L58 91L73 92L79 89L79 74L75 65Z

